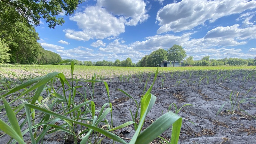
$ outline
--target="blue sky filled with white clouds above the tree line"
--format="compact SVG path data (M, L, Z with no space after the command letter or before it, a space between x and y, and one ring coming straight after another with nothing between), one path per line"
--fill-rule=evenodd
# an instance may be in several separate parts
M85 0L58 17L63 26L41 20L36 32L62 59L137 63L174 44L194 60L256 56L256 0Z

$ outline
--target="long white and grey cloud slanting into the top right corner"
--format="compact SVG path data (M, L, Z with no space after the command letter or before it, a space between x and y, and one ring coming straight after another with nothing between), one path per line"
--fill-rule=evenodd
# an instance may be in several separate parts
M161 26L157 33L190 30L198 25L256 7L256 1L246 0L182 0L167 4L157 12L156 20Z

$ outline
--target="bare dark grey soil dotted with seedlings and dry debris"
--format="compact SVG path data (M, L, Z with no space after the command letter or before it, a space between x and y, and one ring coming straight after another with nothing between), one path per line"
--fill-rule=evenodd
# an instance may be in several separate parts
M231 112L231 104L229 96L237 96L238 100L256 97L255 82L256 76L250 76L247 80L249 70L233 70L233 71L185 71L174 73L158 73L156 83L151 93L156 96L154 107L146 117L143 129L152 124L158 117L168 111L171 103L175 103L179 108L185 104L193 106L183 107L178 115L183 117L180 144L193 143L212 143L212 144L254 144L256 143L256 101L248 99L236 108L234 113ZM208 77L207 77L208 76ZM220 76L220 77L219 77ZM204 78L203 78L204 77ZM132 78L124 79L120 82L118 77L105 78L108 83L110 92L110 101L113 105L113 123L118 126L127 121L131 121L130 111L134 114L136 111L135 102L128 98L117 88L124 90L130 94L138 102L146 85L148 74L144 74L143 78L132 76ZM154 79L154 74L148 79L146 90L150 87ZM246 81L245 81L246 80ZM245 83L244 83L245 82ZM77 85L85 86L85 83L78 82ZM81 89L77 91L83 93ZM87 91L87 99L92 99ZM80 96L75 99L80 102ZM101 109L103 104L108 103L108 96L103 83L95 84L95 96L93 98L96 109ZM219 115L216 116L220 107L225 103ZM234 103L235 101L233 101ZM237 103L234 103L235 106ZM175 108L171 110L175 112ZM4 111L4 110L2 110ZM0 114L2 118L4 113ZM111 121L110 115L107 116ZM134 127L130 125L123 129L115 131L119 136L131 139L134 134ZM46 136L44 144L63 144L67 141L63 140L63 133L55 136ZM171 127L162 135L166 140L171 138ZM47 137L49 139L47 139ZM7 135L0 138L0 144L4 144L10 139ZM25 140L29 140L29 134L24 135ZM125 139L127 142L129 140ZM151 143L160 143L160 139ZM112 140L105 138L101 143L113 143ZM118 144L118 142L115 142Z

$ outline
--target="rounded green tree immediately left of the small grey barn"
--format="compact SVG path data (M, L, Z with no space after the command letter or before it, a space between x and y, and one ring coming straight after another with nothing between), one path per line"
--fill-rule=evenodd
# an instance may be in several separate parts
M164 60L167 59L167 51L164 49L158 49L153 51L149 55L149 60L152 62L152 66L160 65Z

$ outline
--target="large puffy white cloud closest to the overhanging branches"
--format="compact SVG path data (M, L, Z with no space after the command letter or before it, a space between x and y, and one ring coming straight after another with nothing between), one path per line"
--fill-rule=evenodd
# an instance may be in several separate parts
M118 36L125 31L124 18L116 18L105 9L90 6L84 12L77 12L69 18L76 21L82 31L65 29L65 36L71 39L88 41L90 39L104 39L110 36Z

